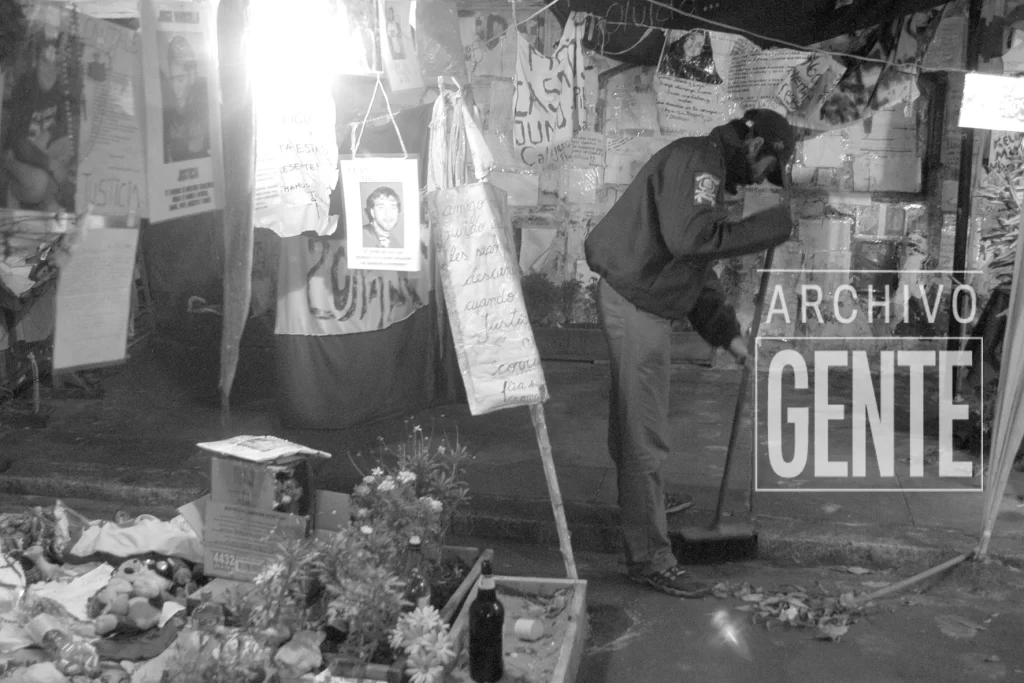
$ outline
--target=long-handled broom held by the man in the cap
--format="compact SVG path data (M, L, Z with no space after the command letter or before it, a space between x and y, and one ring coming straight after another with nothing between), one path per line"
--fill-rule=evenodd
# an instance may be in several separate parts
M765 298L768 292L768 278L770 276L772 257L774 249L770 248L765 254L764 269L761 273L761 287L758 291L758 298L754 304L754 321L751 323L751 331L746 338L746 359L743 361L742 373L739 378L739 394L736 396L736 410L732 416L732 429L729 432L729 446L725 454L725 471L722 473L722 483L718 489L718 505L715 508L715 518L711 526L683 527L679 530L674 543L673 552L677 559L683 564L717 564L741 559L751 559L758 553L758 533L752 521L722 523L722 510L725 507L725 496L729 489L729 472L732 469L732 460L736 452L736 441L739 437L739 422L743 417L743 408L746 403L746 385L751 380L751 358L757 353L757 333L761 326L761 311L764 308ZM751 480L753 482L754 467L757 463L751 464ZM753 488L753 486L752 486ZM753 517L754 494L750 492L746 500L748 515Z

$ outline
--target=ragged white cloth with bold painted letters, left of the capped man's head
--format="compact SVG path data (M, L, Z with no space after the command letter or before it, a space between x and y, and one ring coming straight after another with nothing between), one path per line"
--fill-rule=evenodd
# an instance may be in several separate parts
M579 125L584 54L582 27L565 23L552 56L538 52L516 33L512 141L516 157L527 166L543 166L554 147L568 142Z

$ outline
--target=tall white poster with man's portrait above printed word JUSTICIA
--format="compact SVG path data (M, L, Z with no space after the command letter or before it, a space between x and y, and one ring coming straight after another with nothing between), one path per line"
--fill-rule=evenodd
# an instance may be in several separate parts
M223 208L217 26L206 3L142 0L146 171L154 223Z

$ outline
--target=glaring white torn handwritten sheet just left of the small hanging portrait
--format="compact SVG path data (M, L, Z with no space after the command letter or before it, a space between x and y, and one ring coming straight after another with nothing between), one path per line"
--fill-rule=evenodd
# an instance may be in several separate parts
M338 184L335 113L329 90L259 99L256 227L283 238L328 233L331 193Z

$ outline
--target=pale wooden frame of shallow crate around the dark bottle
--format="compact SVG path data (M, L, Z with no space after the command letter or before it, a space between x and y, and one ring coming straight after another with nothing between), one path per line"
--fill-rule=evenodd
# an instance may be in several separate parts
M572 588L572 602L569 610L569 625L558 653L558 664L549 683L574 683L580 671L584 647L587 643L589 623L587 621L587 582L571 579L540 579L535 577L495 577L495 584L532 595L550 595L563 588ZM459 616L452 626L455 640L456 660L469 642L469 606L473 604L479 584L474 584L463 603Z

